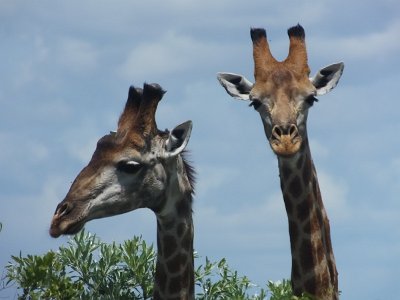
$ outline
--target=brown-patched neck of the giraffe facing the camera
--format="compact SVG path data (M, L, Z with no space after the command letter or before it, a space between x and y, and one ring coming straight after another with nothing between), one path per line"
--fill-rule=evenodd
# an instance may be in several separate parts
M278 158L289 222L292 287L295 295L338 299L338 280L329 220L322 202L308 140L291 158Z

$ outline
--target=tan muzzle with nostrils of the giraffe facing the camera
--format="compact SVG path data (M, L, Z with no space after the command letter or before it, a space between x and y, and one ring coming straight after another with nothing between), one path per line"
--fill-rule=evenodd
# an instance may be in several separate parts
M269 142L276 155L287 157L300 150L302 138L295 124L275 125Z

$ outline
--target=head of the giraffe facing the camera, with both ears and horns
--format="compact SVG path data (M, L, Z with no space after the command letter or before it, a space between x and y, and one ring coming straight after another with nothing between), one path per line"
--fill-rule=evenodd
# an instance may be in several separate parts
M233 73L218 73L218 80L229 95L248 100L257 110L272 150L281 157L296 154L307 139L309 108L338 83L344 65L336 63L309 78L305 33L300 25L289 28L289 54L277 61L269 49L265 29L251 29L253 41L253 84Z

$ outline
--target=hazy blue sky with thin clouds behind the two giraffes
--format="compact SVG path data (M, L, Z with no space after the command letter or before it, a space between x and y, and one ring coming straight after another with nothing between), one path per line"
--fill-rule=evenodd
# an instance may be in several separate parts
M261 121L220 71L253 80L250 27L284 59L288 27L306 30L312 73L344 61L309 114L311 151L331 222L341 299L394 299L400 276L400 2L0 1L0 270L20 251L68 238L50 219L97 139L115 129L131 84L158 82L160 128L193 120L195 248L255 283L290 277L277 160ZM141 210L95 220L105 241L142 234ZM13 295L12 291L0 296Z

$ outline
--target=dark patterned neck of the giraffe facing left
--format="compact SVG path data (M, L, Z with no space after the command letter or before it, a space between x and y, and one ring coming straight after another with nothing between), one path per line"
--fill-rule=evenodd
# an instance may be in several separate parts
M183 159L171 167L165 201L157 215L157 263L153 299L194 299L193 170Z

